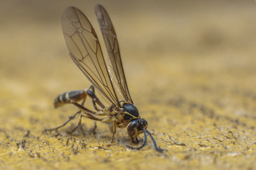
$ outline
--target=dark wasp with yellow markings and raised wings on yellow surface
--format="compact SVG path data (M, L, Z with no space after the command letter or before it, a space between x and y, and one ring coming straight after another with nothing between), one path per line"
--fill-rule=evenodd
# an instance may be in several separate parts
M147 131L147 120L140 117L138 109L132 102L125 79L116 32L109 15L100 4L95 6L95 13L108 51L108 57L105 58L102 55L97 34L83 12L72 6L63 12L61 24L69 55L92 85L88 89L65 92L56 97L54 100L55 108L64 104L74 104L79 108L79 111L71 116L65 124L45 131L57 130L74 119L76 115L79 115L79 122L72 132L81 125L83 117L109 122L112 123L113 127L112 142L116 127L127 127L129 138L134 142L138 142L139 134L144 134L140 146L134 148L127 145L127 147L140 150L147 143L147 134L149 134L157 152L163 152L163 149L157 147L155 139ZM95 89L99 90L99 94L104 101L108 101L109 106L105 106L99 100L95 95ZM95 111L84 107L86 97L92 99Z

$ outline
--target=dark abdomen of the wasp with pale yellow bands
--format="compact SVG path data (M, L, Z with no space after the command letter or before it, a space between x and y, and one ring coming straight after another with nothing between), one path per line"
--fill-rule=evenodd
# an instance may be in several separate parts
M54 107L58 108L63 104L70 103L70 101L81 101L81 99L84 99L84 97L86 97L85 90L74 90L70 92L65 92L56 97L56 99L54 99Z

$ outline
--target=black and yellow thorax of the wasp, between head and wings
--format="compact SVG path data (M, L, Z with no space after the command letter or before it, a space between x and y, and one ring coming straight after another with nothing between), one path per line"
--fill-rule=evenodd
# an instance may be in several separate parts
M120 101L120 108L113 110L111 115L115 117L115 122L118 127L127 127L132 120L140 118L136 106L124 101Z

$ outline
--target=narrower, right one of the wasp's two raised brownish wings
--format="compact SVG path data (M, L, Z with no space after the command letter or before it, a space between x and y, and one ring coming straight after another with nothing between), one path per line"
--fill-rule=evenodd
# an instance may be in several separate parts
M98 4L95 6L95 13L100 25L100 30L102 32L106 48L108 50L108 57L111 61L110 67L112 67L114 72L113 74L110 74L111 78L113 79L113 83L116 83L115 86L117 86L119 91L122 93L124 100L132 103L132 99L127 87L127 82L125 80L124 68L122 65L120 50L113 24L107 11L102 5Z

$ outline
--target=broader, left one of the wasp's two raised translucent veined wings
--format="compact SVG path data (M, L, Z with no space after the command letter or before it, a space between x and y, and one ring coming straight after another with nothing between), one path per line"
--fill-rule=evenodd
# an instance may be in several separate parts
M61 25L72 60L108 101L119 106L97 34L88 18L70 6L63 12Z

